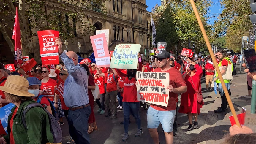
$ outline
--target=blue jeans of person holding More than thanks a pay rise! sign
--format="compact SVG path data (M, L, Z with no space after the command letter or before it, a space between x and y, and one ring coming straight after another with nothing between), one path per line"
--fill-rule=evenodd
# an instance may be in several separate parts
M128 133L130 111L132 111L136 119L138 129L140 129L141 128L140 115L139 115L140 102L123 102L123 110L124 110L124 132Z

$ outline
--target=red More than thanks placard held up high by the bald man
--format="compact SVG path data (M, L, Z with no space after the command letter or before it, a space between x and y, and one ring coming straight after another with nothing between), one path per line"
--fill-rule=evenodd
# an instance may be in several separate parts
M37 31L37 35L42 65L59 64L58 47L54 45L55 38L59 37L59 31Z

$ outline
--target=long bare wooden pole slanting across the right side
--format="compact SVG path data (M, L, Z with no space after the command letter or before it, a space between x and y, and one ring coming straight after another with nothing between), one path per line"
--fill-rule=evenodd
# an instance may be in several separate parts
M221 75L221 73L220 73L220 70L219 70L219 67L218 67L218 63L217 63L216 59L214 58L215 56L214 56L214 53L213 53L213 51L212 51L212 49L211 49L211 44L210 44L210 42L209 42L208 36L207 36L207 34L206 34L206 32L205 32L205 29L204 29L204 27L203 27L203 23L202 23L202 21L201 21L201 18L200 18L199 14L198 14L197 8L196 8L196 6L195 6L195 2L194 2L194 0L190 0L190 2L191 2L191 4L192 4L193 10L194 10L194 12L195 12L195 16L196 16L196 18L197 18L199 27L200 27L200 29L201 29L201 31L202 31L202 33L203 33L203 37L204 37L204 39L205 39L207 48L208 48L208 50L209 50L209 52L210 52L210 55L211 55L211 57L212 57L212 61L213 61L213 63L214 63L214 66L216 66L215 69L217 70L217 73L218 73L218 75L219 75L219 80L220 80L221 85L222 85L222 87L223 87L223 90L224 90L224 92L225 92L225 96L226 96L226 98L227 98L227 102L228 102L228 104L229 104L230 110L231 110L231 112L232 112L232 114L233 114L233 117L234 117L234 119L235 119L236 125L237 125L238 127L241 127L241 125L240 125L240 123L239 123L239 121L238 121L238 118L237 118L236 111L235 111L235 109L234 109L233 103L232 103L232 101L231 101L231 99L230 99L230 96L229 96L229 93L228 93L228 91L227 91L227 87L226 87L226 85L225 85L225 83L224 83L224 80L223 80L223 77L222 77L222 75Z

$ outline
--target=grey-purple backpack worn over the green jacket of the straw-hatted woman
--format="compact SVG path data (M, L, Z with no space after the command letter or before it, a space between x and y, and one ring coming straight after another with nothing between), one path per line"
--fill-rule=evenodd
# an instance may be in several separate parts
M23 114L21 117L22 124L24 125L24 127L27 129L27 124L25 121L26 113L29 109L31 109L33 107L42 107L43 110L47 113L47 115L49 117L49 121L50 121L51 134L53 135L53 143L61 143L62 142L62 131L61 131L61 127L60 127L58 121L56 120L56 118L53 115L51 115L48 112L48 110L46 110L41 104L39 104L37 102L31 103L31 104L27 105L26 107L24 107Z

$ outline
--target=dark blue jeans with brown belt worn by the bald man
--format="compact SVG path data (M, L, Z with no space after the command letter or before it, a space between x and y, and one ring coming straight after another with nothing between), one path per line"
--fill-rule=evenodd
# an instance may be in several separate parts
M77 110L69 110L68 125L69 134L76 144L90 144L88 130L88 118L91 114L91 107L87 106Z

